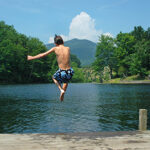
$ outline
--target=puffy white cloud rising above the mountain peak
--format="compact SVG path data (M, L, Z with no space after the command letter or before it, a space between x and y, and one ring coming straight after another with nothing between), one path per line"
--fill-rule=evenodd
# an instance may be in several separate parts
M103 34L101 30L95 28L95 20L90 17L86 12L81 12L79 15L72 19L69 27L68 35L61 35L64 41L71 40L73 38L88 39L93 42L98 41L98 37ZM110 33L106 33L111 35ZM53 37L49 38L49 43L53 43Z

